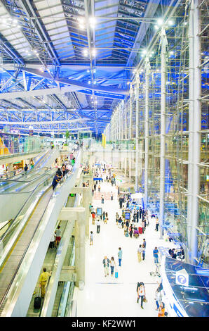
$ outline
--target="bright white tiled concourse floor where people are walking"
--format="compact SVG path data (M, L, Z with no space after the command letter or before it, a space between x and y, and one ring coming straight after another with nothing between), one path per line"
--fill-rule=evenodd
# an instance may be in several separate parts
M117 190L111 184L103 182L101 192L114 192L114 200L93 200L93 206L102 206L107 211L109 223L100 226L100 234L96 233L96 225L90 222L90 231L93 231L93 246L86 240L86 285L83 290L75 289L74 299L77 301L78 317L113 317L113 316L157 316L154 292L159 277L151 277L150 271L155 270L153 249L155 246L170 246L169 242L159 239L159 232L155 229L155 220L150 220L149 227L140 238L125 237L123 229L116 226L115 215L119 209ZM147 242L145 260L137 261L137 248L142 239ZM119 278L104 277L102 260L105 255L116 259L119 246L123 250L122 266L118 267ZM171 246L170 246L171 247ZM173 247L171 247L173 248ZM137 304L137 282L144 282L147 303L144 310Z

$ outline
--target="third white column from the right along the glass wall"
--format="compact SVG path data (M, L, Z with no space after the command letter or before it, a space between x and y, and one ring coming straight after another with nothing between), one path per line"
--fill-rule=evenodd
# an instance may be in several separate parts
M150 63L145 60L145 143L144 143L144 206L148 203L148 169L149 169L149 74Z

